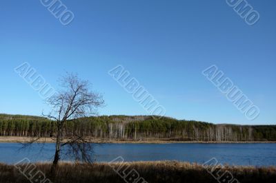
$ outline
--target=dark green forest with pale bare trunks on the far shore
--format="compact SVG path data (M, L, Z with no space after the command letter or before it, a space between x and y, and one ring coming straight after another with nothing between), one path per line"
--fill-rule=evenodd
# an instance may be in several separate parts
M65 136L105 140L276 141L276 125L214 125L157 116L98 116L66 122ZM0 136L52 137L56 122L38 116L0 114Z

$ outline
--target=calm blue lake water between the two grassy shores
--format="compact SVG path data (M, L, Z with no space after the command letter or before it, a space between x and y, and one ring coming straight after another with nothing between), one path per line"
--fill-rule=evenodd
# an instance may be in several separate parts
M12 164L29 158L32 162L52 160L55 144L0 143L0 162ZM204 163L217 158L222 164L276 166L276 144L95 144L95 159L109 162L118 156L126 161L178 160Z

